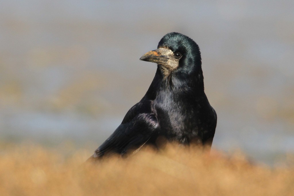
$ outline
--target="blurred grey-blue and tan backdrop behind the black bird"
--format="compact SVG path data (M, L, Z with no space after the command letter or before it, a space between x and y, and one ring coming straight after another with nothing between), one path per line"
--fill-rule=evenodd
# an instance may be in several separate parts
M213 148L294 153L294 1L0 2L0 142L95 150L146 93L168 32L198 43Z

